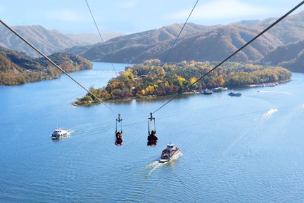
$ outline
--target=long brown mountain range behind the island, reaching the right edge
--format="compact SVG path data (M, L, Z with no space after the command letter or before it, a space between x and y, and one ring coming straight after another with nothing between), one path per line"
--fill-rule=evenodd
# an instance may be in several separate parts
M243 20L229 25L203 26L188 23L172 49L167 62L221 61L258 35L265 27L277 20ZM240 51L231 61L259 63L270 51L290 43L304 40L304 11L287 17L272 27L251 45ZM72 47L68 53L80 54L91 61L117 63L141 63L147 59L166 58L182 24L168 25L132 35L115 37L103 44ZM278 56L280 58L281 56Z

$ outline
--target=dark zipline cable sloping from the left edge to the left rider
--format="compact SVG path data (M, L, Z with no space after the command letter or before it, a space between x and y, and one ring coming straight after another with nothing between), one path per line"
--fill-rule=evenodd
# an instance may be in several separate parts
M4 25L5 27L8 28L8 30L11 30L11 32L13 32L13 34L17 35L20 39L23 40L23 42L25 42L26 44L28 44L30 47L32 47L32 49L34 49L35 51L37 51L40 55L42 55L47 61L49 61L51 64L53 64L53 66L55 66L56 68L58 68L59 70L61 70L65 75L67 75L71 80L73 80L74 82L77 83L77 85L80 85L80 87L82 87L84 90L86 90L89 94L93 95L96 99L98 99L99 101L101 101L101 99L99 99L99 97L96 97L95 94L93 94L91 91L87 90L86 87L84 87L83 85L80 84L80 82L77 82L77 80L75 80L74 78L72 78L72 76L70 76L68 73L65 72L65 70L63 70L61 67L59 67L56 63L54 63L51 59L49 59L49 57L47 57L46 55L44 55L42 53L42 51L39 51L39 49L37 49L36 47L34 47L34 45L32 45L30 42L27 41L27 39L23 38L21 35L18 34L18 32L16 32L15 30L13 30L12 27L10 27L9 25L7 25L6 23L4 23L4 21L2 21L0 19L0 23L2 23L2 25ZM104 103L103 101L101 101L101 103L106 106L108 109L110 109L110 111L112 111L115 114L116 113L113 109L110 108L110 106L106 105L106 103Z

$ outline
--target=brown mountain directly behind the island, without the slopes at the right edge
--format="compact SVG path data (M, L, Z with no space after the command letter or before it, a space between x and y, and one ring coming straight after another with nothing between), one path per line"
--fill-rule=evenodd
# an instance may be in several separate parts
M151 58L163 60L181 26L182 24L175 24L158 30L116 37L106 42L106 48L112 61L118 63L141 63ZM205 27L191 23L182 32L167 61L220 61L260 31L262 28L258 26L235 24ZM232 61L260 60L270 50L281 44L277 37L265 34L257 42L241 51ZM91 61L108 61L103 44L95 44L87 51L82 49L82 52L77 54Z

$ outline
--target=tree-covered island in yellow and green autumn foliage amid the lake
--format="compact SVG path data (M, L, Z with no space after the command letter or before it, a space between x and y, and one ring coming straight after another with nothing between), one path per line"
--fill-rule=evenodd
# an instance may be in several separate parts
M120 73L117 78L112 78L106 87L97 89L90 87L90 91L103 101L164 96L181 92L212 68L214 68L213 63L208 61L182 61L165 63L161 66L160 60L151 59L126 67L125 72ZM213 87L245 87L282 82L290 78L291 72L285 68L229 62L215 69L187 91ZM72 104L77 106L99 102L93 95L87 93Z

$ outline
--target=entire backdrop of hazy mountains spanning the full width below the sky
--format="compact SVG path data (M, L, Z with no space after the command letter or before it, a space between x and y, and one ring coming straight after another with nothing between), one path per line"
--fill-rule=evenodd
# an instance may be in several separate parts
M274 20L277 18L243 20L229 25L212 26L187 23L169 57L167 57L168 52L182 24L176 23L159 29L108 39L105 40L106 47L102 43L89 44L94 40L94 42L99 42L96 35L95 38L91 37L91 42L84 42L85 40L81 39L88 38L84 35L69 37L56 30L46 30L40 25L18 26L15 29L19 29L18 31L25 38L46 54L64 50L90 61L109 62L107 52L111 61L117 63L141 63L148 59L161 61L166 59L167 62L222 61ZM0 36L0 45L25 51L27 54L32 53L32 50L29 50L30 47L19 39L15 39L11 33L4 30L4 26L0 26L0 31L4 33ZM120 33L116 34L120 35ZM301 52L303 46L304 11L285 18L229 60L243 63L270 63L291 68L294 64L300 66L300 62L296 61L303 55ZM289 51L284 51L285 49ZM303 71L302 69L297 69L297 71Z

